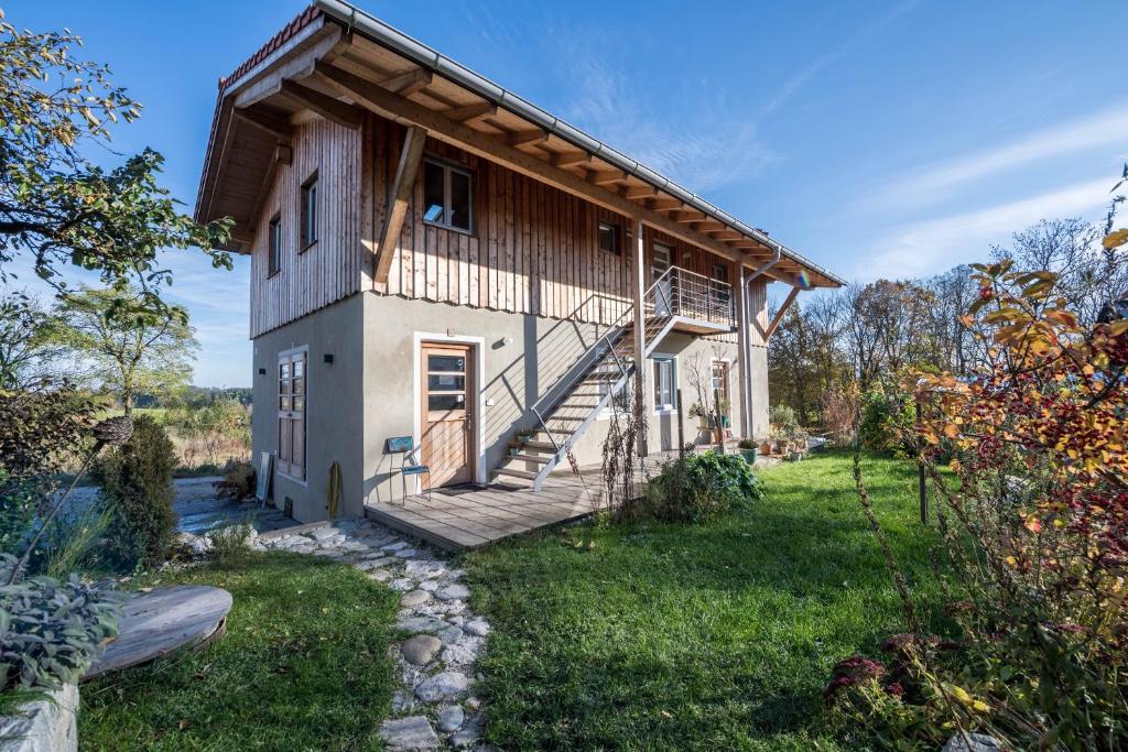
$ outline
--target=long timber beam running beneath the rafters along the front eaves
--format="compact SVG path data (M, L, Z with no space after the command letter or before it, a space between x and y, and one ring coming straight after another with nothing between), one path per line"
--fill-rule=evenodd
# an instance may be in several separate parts
M449 117L444 117L441 113L434 112L411 99L390 94L379 85L350 71L336 68L333 64L317 61L314 65L314 72L325 83L381 117L388 117L400 123L420 125L426 129L430 136L450 143L483 159L501 162L514 172L540 180L619 214L641 216L645 224L660 232L680 238L686 242L715 253L730 260L751 263L746 254L733 250L719 240L693 232L685 225L673 222L662 214L640 207L618 193L592 185L574 172L554 167L548 163L549 156L544 150L540 151L540 156L534 156L530 152L510 147L503 139L497 139L461 123L456 123ZM769 273L769 275L772 274ZM790 283L791 277L782 278L782 281Z

